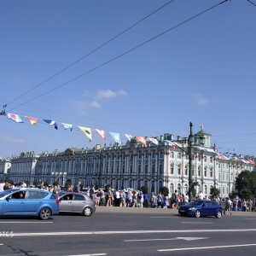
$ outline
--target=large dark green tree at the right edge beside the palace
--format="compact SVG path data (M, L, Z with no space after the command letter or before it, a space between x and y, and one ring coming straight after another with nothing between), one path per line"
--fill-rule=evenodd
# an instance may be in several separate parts
M238 189L239 195L241 195L242 189L249 189L250 194L256 195L256 172L242 171L239 173L236 177L236 189Z

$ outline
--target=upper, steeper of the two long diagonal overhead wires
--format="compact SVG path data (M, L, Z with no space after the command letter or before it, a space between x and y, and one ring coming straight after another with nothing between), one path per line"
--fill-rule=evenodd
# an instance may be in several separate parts
M143 20L148 19L148 17L150 17L151 15L154 15L155 13L157 13L158 11L160 11L160 9L165 8L169 3L172 3L172 2L174 2L174 1L175 1L175 0L171 0L171 1L169 1L168 3L162 5L159 9L154 10L154 12L152 12L151 14L145 16L143 19L138 20L136 23L134 23L133 25L131 25L131 26L129 26L128 28L126 28L123 32L120 32L119 34L117 34L117 35L114 36L113 38L109 39L109 40L108 40L107 42L105 42L104 44L102 44L102 45L100 45L99 47L97 47L96 49L93 49L92 51L90 51L90 53L84 55L84 56L81 57L79 60L74 61L74 62L73 62L72 64L70 64L69 66L67 66L67 67L65 67L65 68L63 68L63 69L61 69L60 72L55 73L53 76L49 77L49 79L46 79L46 80L44 80L42 83L40 83L40 84L38 84L38 85L32 87L32 89L27 90L25 93L23 93L23 94L21 94L20 96L16 97L14 100L12 100L11 102L8 102L7 104L10 104L10 103L12 103L12 102L15 102L15 101L16 101L17 99L19 99L20 97L25 96L27 93L31 92L32 90L35 90L35 89L38 88L40 85L45 84L45 83L48 82L50 79L53 79L53 78L55 78L57 75L63 73L63 72L66 71L69 67L73 67L73 66L74 66L75 64L77 64L79 61L84 60L86 57L88 57L89 55L93 54L93 53L96 52L98 49L101 49L103 46L109 44L109 43L112 42L114 39L119 38L119 36L121 36L122 34L124 34L124 33L127 32L127 31L129 31L132 27L137 26L137 25L138 25L139 23L141 23Z

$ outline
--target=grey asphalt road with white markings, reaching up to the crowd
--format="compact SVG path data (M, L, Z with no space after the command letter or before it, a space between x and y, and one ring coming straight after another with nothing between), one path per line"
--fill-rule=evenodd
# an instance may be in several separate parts
M0 218L1 255L256 255L256 212L184 218L172 209L99 207L89 218Z

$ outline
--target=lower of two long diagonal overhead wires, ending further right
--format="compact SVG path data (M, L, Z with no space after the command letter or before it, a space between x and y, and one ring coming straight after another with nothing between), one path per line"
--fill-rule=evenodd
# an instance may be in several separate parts
M113 59L111 59L111 60L109 60L109 61L106 61L106 62L102 63L101 65L99 65L99 66L97 66L97 67L94 67L94 68L90 69L89 71L87 71L87 72L85 72L85 73L82 73L82 74L79 75L78 77L73 78L73 79L67 81L67 82L64 83L64 84L60 84L60 85L56 86L55 88L53 88L53 89L51 89L51 90L48 90L48 91L44 92L43 94L41 94L41 95L39 95L39 96L36 96L36 97L32 98L31 100L26 101L26 102L24 102L24 103L22 103L22 104L16 106L15 108L19 108L20 106L23 106L23 105L25 105L25 104L28 103L28 102L32 102L32 101L38 99L38 98L41 97L41 96L45 96L45 95L49 94L50 92L52 92L52 91L54 91L54 90L57 90L57 89L63 87L63 86L66 85L66 84L70 84L71 82L73 82L73 81L75 81L75 80L77 80L77 79L80 79L80 78L84 77L85 75L87 75L87 74L89 74L89 73L92 73L92 72L96 71L97 69L99 69L99 68L101 68L101 67L106 66L106 65L109 64L110 62L113 62L113 61L119 59L120 57L122 57L122 56L124 56L124 55L127 55L128 53L131 53L131 51L142 47L144 44L148 44L149 42L153 41L153 40L156 39L156 38L160 38L161 36L163 36L163 35L166 34L167 32L172 31L173 29L177 28L178 26L182 26L183 24L189 22L190 20L193 20L193 19L195 19L196 17L207 13L208 11L210 11L210 10L212 10L212 9L214 9L214 8L216 8L216 7L218 7L220 4L225 3L225 2L227 2L227 1L229 1L229 0L224 0L224 1L220 2L220 3L217 3L217 4L213 5L211 8L208 8L208 9L202 11L201 13L192 16L192 17L189 18L189 19L184 20L183 22L180 22L180 23L177 24L176 26L172 26L170 29L167 29L165 32L161 32L160 34L154 36L154 38L150 38L150 39L148 39L147 41L143 42L142 44L138 44L137 46L135 46L135 47L133 47L133 48L131 48L131 49L125 51L125 52L122 53L121 55L117 55L117 56L114 57ZM15 109L15 108L11 108L10 110L13 110L13 109Z

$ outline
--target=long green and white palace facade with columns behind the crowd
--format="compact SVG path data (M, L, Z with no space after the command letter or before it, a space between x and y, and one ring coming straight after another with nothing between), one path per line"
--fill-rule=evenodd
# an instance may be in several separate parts
M203 144L201 138L204 138ZM220 189L227 196L236 189L236 176L244 171L254 172L253 156L220 154L216 145L211 147L211 135L203 131L195 134L193 145L192 177L195 189L210 195L210 189ZM23 152L9 159L0 159L0 179L15 183L25 180L30 184L57 181L60 185L77 183L84 187L97 183L100 188L110 184L113 189L140 189L147 186L157 193L166 186L170 194L177 189L186 193L189 188L188 140L165 134L158 145L147 141L147 147L137 141L125 145L94 148L67 148L42 154ZM7 168L9 165L9 168Z

